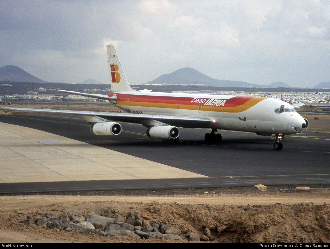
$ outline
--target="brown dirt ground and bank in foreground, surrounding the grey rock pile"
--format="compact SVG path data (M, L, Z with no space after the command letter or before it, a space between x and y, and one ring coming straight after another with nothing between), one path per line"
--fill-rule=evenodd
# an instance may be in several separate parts
M0 241L196 242L189 241L193 233L203 243L330 242L330 186L310 186L311 190L299 192L293 191L294 187L271 186L267 191L237 187L0 196ZM79 233L49 228L50 223L38 226L28 219L46 213L65 216L72 211L85 218L99 211L110 217L114 210L124 216L134 212L146 224L159 221L180 228L180 240L102 236L92 230Z

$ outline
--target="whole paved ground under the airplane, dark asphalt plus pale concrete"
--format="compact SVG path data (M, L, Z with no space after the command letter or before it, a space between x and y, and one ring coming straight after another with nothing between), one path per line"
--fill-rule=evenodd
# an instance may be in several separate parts
M180 128L179 143L170 144L150 139L138 124L121 123L118 136L95 136L80 116L0 115L0 122L0 193L330 183L327 133L286 136L283 149L276 151L270 137L247 132L221 130L222 142L210 144L203 139L208 130ZM23 127L39 135L31 137ZM8 140L10 146L3 140L5 130L18 136ZM17 149L41 168L15 166L17 158L11 153ZM55 161L61 162L58 169L52 166ZM58 178L45 177L46 171ZM22 172L23 178L9 180ZM31 172L37 176L31 178Z

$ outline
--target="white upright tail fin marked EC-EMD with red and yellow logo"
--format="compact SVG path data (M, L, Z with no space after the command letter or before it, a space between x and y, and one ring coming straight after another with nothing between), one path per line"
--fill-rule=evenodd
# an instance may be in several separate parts
M127 82L114 45L107 45L111 91L135 91Z

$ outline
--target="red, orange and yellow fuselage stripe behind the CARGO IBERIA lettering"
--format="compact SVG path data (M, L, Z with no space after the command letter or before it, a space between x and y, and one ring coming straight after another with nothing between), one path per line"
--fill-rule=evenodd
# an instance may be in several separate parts
M152 95L136 95L136 94L122 94L109 93L109 96L116 94L116 105L126 105L126 99L129 99L128 106L139 107L155 107L155 108L171 108L171 109L186 109L198 110L199 105L202 105L203 111L214 112L242 112L248 108L259 103L266 98L249 97L249 96L235 96L232 98L213 99L210 95L206 98L193 97L176 97L176 96L152 96Z

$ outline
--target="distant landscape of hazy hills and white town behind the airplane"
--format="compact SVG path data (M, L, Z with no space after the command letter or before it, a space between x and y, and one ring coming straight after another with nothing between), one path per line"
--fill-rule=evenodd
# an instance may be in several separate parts
M2 104L16 100L104 102L104 100L63 94L58 91L58 89L62 89L98 94L107 94L111 91L110 84L99 83L101 82L93 79L88 79L81 84L50 83L17 66L8 65L0 68L0 101ZM131 87L136 90L147 89L153 92L261 96L281 99L290 104L313 103L315 107L330 108L330 82L319 83L314 88L292 88L283 82L261 86L241 81L212 79L188 67L170 74L163 74L143 85L132 85Z

